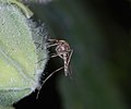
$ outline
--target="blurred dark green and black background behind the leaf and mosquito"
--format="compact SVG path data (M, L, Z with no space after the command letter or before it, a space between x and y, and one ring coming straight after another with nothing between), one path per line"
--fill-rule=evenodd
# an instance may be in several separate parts
M56 73L16 109L131 109L130 0L53 0L29 3L52 38L73 48L72 76ZM51 59L47 75L63 65Z

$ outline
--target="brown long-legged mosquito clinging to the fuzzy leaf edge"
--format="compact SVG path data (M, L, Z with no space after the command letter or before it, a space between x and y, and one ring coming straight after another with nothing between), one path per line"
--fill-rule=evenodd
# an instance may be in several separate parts
M70 76L72 74L70 61L73 53L73 49L70 48L70 45L66 40L58 40L58 39L48 39L47 48L56 47L55 51L56 53L51 55L50 58L59 57L63 60L63 66L55 70L51 74L49 74L46 80L44 80L41 86L45 84L45 82L50 78L56 72L59 72L60 70L64 70L64 75ZM40 88L41 88L40 86ZM38 90L40 90L40 88ZM39 94L39 92L38 92ZM37 98L38 98L37 94Z

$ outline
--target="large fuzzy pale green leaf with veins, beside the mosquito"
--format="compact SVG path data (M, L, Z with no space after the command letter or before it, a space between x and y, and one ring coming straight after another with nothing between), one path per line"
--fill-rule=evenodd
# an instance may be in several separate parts
M1 1L0 106L10 106L39 86L39 76L47 62L47 51L44 45L45 34L40 32L43 27L36 28L35 23L20 10L22 7ZM15 0L7 1L21 4ZM45 49L37 48L36 41ZM44 60L38 62L41 59Z

